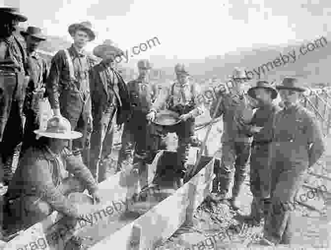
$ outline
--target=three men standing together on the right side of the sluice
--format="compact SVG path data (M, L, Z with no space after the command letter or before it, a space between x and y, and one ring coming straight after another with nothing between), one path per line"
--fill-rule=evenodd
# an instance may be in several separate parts
M236 69L233 88L219 92L219 108L216 110L215 100L210 109L211 115L223 115L224 124L221 164L215 169L212 198L238 210L238 194L250 161L253 202L246 219L255 225L265 220L260 244L288 245L293 243L302 218L282 208L295 204L307 169L325 151L324 136L318 120L300 104L305 88L298 78L285 77L275 87L260 80L245 94L243 86L249 80L245 70ZM275 102L278 94L280 103Z

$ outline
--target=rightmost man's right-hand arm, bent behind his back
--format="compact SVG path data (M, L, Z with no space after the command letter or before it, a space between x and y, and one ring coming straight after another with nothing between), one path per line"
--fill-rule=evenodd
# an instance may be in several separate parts
M326 149L321 126L319 122L316 121L315 117L309 114L306 130L309 145L309 167L313 166L318 161Z

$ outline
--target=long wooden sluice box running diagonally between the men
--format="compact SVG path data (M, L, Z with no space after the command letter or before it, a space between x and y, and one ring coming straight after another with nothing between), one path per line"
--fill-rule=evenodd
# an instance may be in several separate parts
M173 167L171 162L176 157L176 152L159 152L149 165L148 183L152 183L157 169ZM4 249L152 250L192 219L194 210L211 191L214 161L202 156L194 177L178 189L173 188L171 176L161 178L158 188L148 189L146 200L136 200L138 176L130 168L124 169L99 184L102 201L91 209L87 216L90 222L73 223L54 212L21 232ZM72 194L70 199L87 202L82 195Z

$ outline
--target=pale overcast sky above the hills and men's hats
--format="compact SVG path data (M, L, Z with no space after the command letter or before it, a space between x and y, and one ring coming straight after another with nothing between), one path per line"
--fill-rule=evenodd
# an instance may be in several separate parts
M231 2L231 3L230 3ZM330 0L0 0L19 6L47 34L66 36L68 25L89 20L97 38L130 49L158 37L148 55L201 59L236 48L287 44L327 35Z

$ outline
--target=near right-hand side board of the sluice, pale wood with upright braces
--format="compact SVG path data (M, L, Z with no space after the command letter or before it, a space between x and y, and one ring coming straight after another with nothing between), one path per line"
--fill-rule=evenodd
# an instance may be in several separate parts
M90 249L103 250L109 246L116 246L116 250L152 250L158 243L168 239L187 219L192 217L193 211L211 191L215 159L209 158L211 159L209 163L183 187L146 214ZM140 240L136 239L138 234Z

